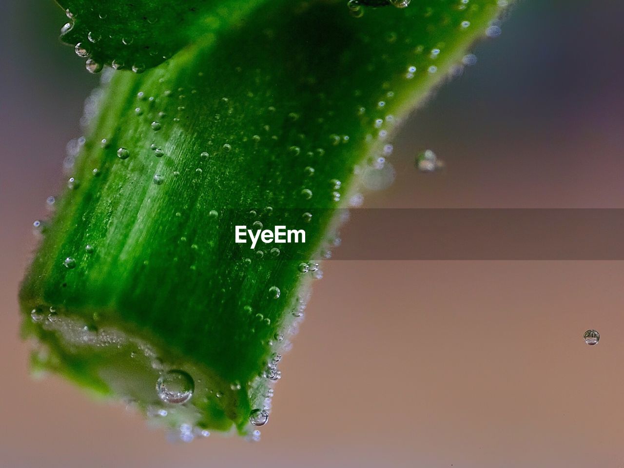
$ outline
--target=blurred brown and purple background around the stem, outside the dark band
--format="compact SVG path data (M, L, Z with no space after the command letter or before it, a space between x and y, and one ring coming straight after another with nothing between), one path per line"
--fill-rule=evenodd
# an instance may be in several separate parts
M624 208L623 15L519 2L409 119L365 206ZM52 0L0 2L0 21L0 466L624 467L621 261L328 261L258 444L171 444L33 381L17 287L97 78L56 40ZM427 148L444 171L417 171Z

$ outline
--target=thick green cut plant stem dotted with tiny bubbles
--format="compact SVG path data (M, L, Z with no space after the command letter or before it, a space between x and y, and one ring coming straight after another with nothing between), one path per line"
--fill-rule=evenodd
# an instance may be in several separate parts
M188 45L171 59L104 85L21 303L24 335L46 346L36 369L166 410L170 427L245 434L250 417L263 422L334 211L361 189L354 173L388 152L401 119L461 66L500 7L426 0L354 17L342 1L280 0L242 22L239 7L223 2L233 22L218 34L174 31L162 55ZM234 243L234 226L254 222L305 228L306 243L258 247L260 257ZM194 381L187 402L158 398L168 375Z

